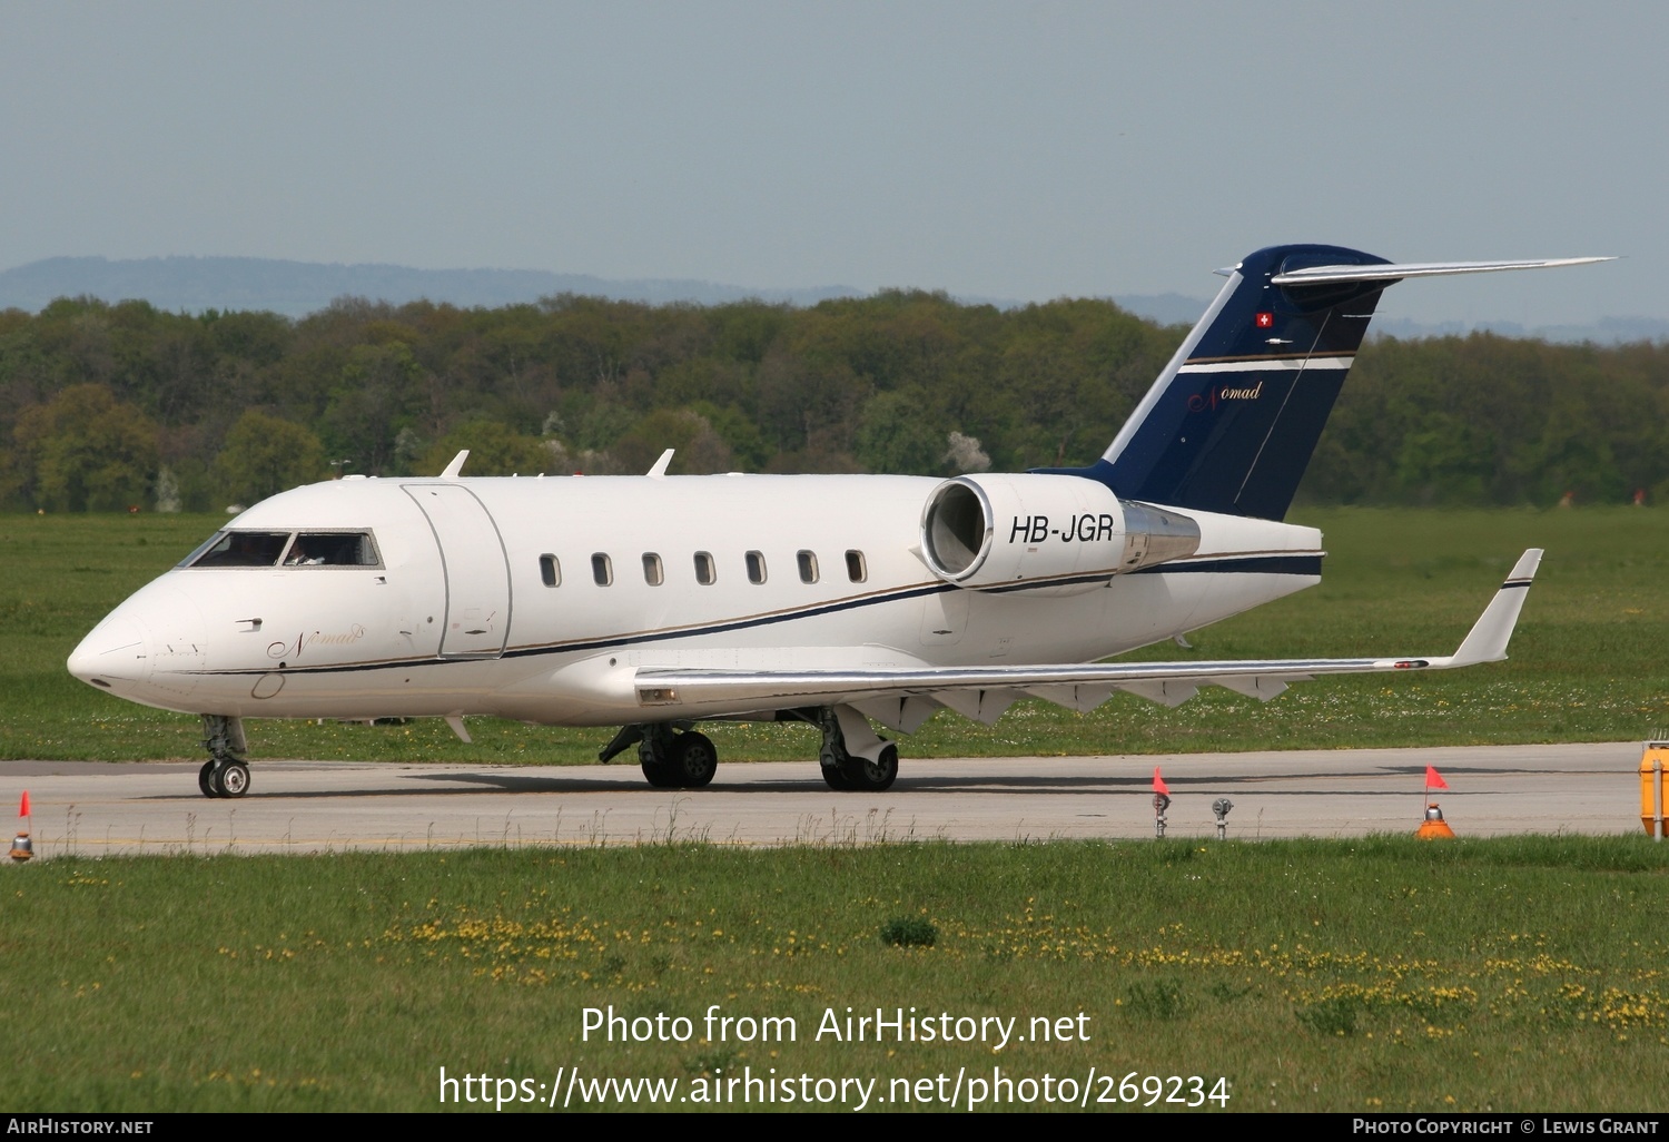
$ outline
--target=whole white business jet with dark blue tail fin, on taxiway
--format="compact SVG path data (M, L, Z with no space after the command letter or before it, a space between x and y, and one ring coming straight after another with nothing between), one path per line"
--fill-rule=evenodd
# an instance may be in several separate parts
M1405 277L1606 259L1390 264L1278 245L1228 282L1083 469L906 476L345 478L274 496L110 613L70 656L195 713L207 796L249 790L245 718L621 726L656 786L701 786L706 720L806 721L836 790L880 791L948 708L1115 690L1262 700L1317 675L1499 661L1540 551L1449 656L1102 663L1320 579L1283 524L1380 292Z

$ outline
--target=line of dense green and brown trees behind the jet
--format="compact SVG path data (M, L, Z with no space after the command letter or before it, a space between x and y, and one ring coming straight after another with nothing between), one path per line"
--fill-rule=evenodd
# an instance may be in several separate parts
M1100 456L1187 331L1107 301L340 299L300 321L0 312L0 506L219 509L330 474L1018 471ZM1669 496L1669 346L1364 346L1312 503Z

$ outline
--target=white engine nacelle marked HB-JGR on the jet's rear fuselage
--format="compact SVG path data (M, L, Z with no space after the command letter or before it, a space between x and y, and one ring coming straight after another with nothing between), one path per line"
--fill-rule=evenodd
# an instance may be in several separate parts
M973 591L1036 583L1075 594L1198 548L1200 526L1188 516L1122 501L1082 476L958 476L921 511L928 568Z

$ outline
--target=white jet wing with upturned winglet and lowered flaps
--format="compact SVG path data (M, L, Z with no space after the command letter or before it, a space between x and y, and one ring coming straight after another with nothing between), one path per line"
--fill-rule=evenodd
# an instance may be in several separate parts
M851 670L688 670L636 671L644 706L724 703L736 710L769 706L856 706L888 726L913 731L938 706L980 721L996 721L1021 696L1043 698L1080 711L1093 710L1115 690L1175 706L1200 686L1227 686L1263 701L1320 675L1454 670L1507 658L1507 639L1524 608L1542 551L1519 558L1512 574L1472 624L1454 654L1425 658L1285 658L1180 663L1085 663L1043 666L921 666Z

